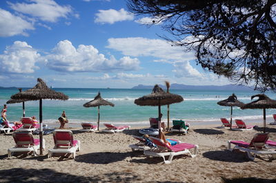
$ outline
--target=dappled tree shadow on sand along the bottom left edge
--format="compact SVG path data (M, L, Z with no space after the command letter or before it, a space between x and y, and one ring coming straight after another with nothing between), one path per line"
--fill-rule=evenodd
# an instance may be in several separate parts
M111 172L90 177L59 173L51 169L0 170L1 182L135 182L141 181L131 173Z

